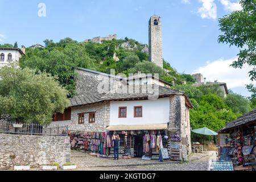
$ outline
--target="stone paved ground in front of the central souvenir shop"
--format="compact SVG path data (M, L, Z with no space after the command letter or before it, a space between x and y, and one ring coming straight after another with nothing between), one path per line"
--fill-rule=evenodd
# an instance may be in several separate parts
M189 162L158 162L158 160L142 160L140 158L119 159L96 158L82 152L72 151L71 162L77 164L77 170L84 171L206 171L209 159L216 158L215 151L191 154Z

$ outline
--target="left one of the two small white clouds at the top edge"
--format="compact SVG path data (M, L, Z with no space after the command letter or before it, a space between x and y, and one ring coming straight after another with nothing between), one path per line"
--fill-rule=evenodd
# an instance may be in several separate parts
M199 0L203 5L197 10L201 18L216 19L217 18L217 6L214 0Z

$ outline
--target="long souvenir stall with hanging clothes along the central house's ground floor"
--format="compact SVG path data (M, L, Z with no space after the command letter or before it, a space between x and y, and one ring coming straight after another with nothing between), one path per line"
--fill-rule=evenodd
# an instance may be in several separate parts
M119 130L113 127L111 129L103 133L84 131L69 133L71 149L102 158L114 157L112 137L118 134L120 138L119 158L184 160L185 154L183 153L187 149L181 147L181 137L175 132L167 129Z

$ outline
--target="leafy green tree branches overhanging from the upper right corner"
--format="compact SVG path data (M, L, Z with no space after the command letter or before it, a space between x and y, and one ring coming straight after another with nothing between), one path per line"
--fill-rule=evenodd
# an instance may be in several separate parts
M240 4L241 11L233 11L219 19L220 30L224 35L218 37L218 42L242 48L238 53L238 60L233 62L232 67L242 68L245 64L250 65L252 70L249 76L250 80L254 81L256 80L256 1L241 0ZM247 88L255 95L256 89L251 85Z

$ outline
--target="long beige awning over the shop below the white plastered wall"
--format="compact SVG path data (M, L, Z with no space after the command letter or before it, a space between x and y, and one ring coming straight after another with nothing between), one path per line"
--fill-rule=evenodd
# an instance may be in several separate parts
M165 130L167 123L152 125L111 125L106 127L109 131L126 131L126 130Z

